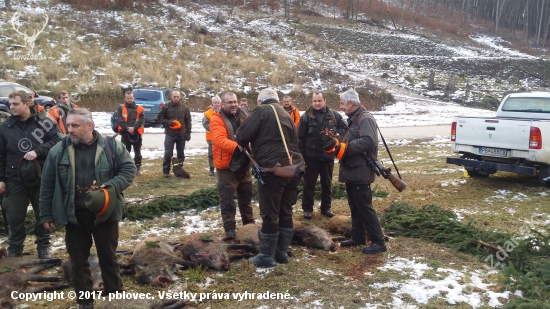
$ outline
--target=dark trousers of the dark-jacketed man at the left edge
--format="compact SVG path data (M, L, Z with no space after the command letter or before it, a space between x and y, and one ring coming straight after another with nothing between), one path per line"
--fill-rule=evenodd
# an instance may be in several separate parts
M9 226L8 252L19 255L23 252L23 246L27 232L25 230L25 218L29 200L34 210L34 235L36 235L36 248L46 249L50 246L50 232L40 222L40 185L27 187L25 184L8 181L8 190L4 195L2 208L6 210L6 221Z

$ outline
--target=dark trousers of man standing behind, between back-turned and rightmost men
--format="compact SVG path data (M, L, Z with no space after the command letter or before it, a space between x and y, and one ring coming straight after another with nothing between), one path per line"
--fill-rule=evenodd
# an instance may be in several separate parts
M315 200L315 184L321 175L321 211L329 210L332 202L332 171L334 160L315 161L305 159L304 192L302 195L302 210L313 211Z

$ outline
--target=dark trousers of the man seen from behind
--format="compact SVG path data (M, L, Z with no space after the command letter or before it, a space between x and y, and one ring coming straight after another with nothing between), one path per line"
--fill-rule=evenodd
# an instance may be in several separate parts
M265 176L265 185L258 182L262 233L276 234L279 227L292 228L292 206L298 199L301 177Z

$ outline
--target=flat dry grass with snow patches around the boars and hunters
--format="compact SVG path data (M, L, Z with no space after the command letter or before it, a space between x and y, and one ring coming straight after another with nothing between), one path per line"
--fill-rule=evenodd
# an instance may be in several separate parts
M508 173L497 173L489 178L466 178L461 168L445 163L445 157L452 155L447 143L415 140L401 144L391 146L391 150L408 187L398 193L387 180L379 177L373 184L374 190L389 193L386 197L374 198L379 214L384 214L390 205L396 203L416 208L433 204L455 212L456 220L461 223L485 231L518 234L526 223L537 228L548 225L550 190L536 179ZM380 153L380 158L388 165L387 155ZM135 203L139 199L189 195L198 189L215 187L215 179L208 176L206 156L186 160L185 168L192 175L191 180L165 179L160 166L160 159L144 164L144 174L125 191L125 197L132 202L129 207L139 207ZM337 168L338 164L335 164ZM260 223L257 201L253 201L253 205L256 221ZM138 241L148 236L185 240L189 233L201 231L223 236L219 209L215 205L202 207L207 209L165 213L139 221L125 220L120 226L119 249L132 250ZM294 210L294 218L302 220L300 201ZM334 200L332 210L336 214L350 214L345 199ZM327 228L328 219L320 216L318 211L316 208L309 223ZM391 231L386 229L386 232ZM26 248L32 255L36 254L33 241L32 236L26 241ZM52 242L56 249L54 257L67 258L62 228L53 234ZM503 246L501 243L493 245ZM141 285L128 276L123 277L124 286L128 292L157 295L159 291L187 291L209 296L209 299L189 303L187 307L190 308L492 308L494 303L490 303L489 295L506 291L506 278L496 271L483 273L488 263L480 256L453 250L445 244L397 235L389 240L388 252L375 256L363 254L362 248L338 248L336 252L301 246L292 248L294 256L290 263L270 270L256 269L246 261L236 261L227 272L208 269L181 271L177 274L180 279L166 288ZM127 262L127 257L121 257L120 261ZM50 273L59 274L60 270L53 269ZM451 277L454 279L450 280ZM437 285L430 290L427 286L420 288L421 282L435 282ZM470 288L466 288L469 285ZM418 286L419 290L408 294L404 292L405 286ZM289 299L233 299L232 293L245 291L288 293ZM424 294L425 300L419 300L418 296ZM456 303L450 299L455 299ZM479 299L479 305L467 303L472 299ZM498 296L495 299L499 299ZM500 298L500 302L506 301ZM68 300L26 305L29 308L75 307L75 303ZM115 306L114 303L107 308L111 306ZM125 306L136 307L129 303Z

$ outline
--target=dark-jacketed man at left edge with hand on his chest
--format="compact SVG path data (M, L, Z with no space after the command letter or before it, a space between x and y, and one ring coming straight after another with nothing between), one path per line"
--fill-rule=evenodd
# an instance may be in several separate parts
M59 141L59 129L48 117L38 115L24 91L9 94L13 116L0 126L0 194L9 226L8 257L23 254L25 218L29 201L34 210L38 257L50 258L50 233L40 224L38 205L40 169L50 149ZM42 182L43 183L43 182Z

